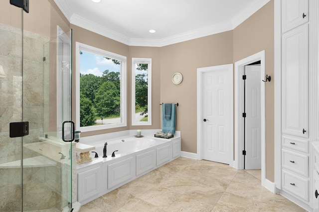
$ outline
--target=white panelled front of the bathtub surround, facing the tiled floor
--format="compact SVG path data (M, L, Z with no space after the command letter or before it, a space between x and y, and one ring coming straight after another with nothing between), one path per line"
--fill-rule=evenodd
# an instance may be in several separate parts
M77 169L78 202L86 204L180 157L180 137L111 160L94 159L94 165ZM84 164L81 164L84 166Z

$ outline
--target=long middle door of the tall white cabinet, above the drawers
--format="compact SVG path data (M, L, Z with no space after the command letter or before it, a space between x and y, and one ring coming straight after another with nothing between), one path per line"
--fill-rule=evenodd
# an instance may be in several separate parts
M283 35L283 134L309 137L309 25Z

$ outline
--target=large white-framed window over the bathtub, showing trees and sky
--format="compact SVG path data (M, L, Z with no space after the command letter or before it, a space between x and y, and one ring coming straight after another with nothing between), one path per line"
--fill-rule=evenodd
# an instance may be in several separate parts
M76 42L76 129L126 126L126 57Z

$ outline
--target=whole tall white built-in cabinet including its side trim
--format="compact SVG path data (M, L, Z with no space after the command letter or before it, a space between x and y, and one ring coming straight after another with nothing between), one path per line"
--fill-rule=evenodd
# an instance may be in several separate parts
M312 46L318 35L317 1L275 0L275 161L280 161L275 184L279 193L308 211L314 205L311 142L319 131L318 59L313 59L319 46Z

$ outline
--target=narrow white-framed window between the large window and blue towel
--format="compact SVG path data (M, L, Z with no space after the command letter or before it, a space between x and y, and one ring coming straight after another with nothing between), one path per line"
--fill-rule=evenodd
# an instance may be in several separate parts
M151 58L132 58L132 125L152 125Z

